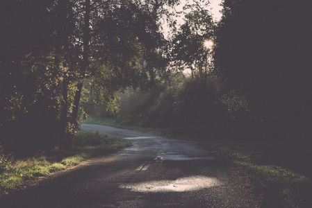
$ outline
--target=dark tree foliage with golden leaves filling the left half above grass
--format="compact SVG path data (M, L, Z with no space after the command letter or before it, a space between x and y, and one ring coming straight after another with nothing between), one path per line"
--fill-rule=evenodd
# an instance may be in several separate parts
M172 4L174 1L166 1ZM79 105L150 87L165 67L152 1L1 1L0 131L6 153L70 148ZM7 20L10 17L10 21ZM83 82L85 89L82 90ZM79 112L80 107L80 112ZM43 137L44 135L44 137Z

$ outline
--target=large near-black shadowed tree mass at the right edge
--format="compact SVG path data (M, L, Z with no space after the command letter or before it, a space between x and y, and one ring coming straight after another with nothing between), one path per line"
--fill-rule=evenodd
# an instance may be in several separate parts
M310 1L224 1L215 73L252 98L274 138L311 143Z

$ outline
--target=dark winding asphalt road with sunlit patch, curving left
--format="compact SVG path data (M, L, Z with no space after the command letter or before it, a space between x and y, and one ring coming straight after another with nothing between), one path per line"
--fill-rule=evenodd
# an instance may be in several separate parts
M54 173L0 207L258 207L245 177L192 141L82 124L133 146Z

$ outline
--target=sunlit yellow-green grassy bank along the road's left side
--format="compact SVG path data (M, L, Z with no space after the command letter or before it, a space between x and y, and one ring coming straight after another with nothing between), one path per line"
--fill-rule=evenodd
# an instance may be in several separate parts
M0 153L0 196L18 189L26 180L65 169L85 159L131 146L131 141L91 132L77 132L69 151L54 150L14 159Z

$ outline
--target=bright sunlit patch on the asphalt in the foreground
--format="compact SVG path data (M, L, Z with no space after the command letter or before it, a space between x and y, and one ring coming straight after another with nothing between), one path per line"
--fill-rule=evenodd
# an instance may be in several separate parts
M137 184L126 184L120 186L122 189L130 189L135 192L185 192L198 191L208 187L220 185L215 177L196 175L191 177L181 177L177 180L160 180L142 182Z

